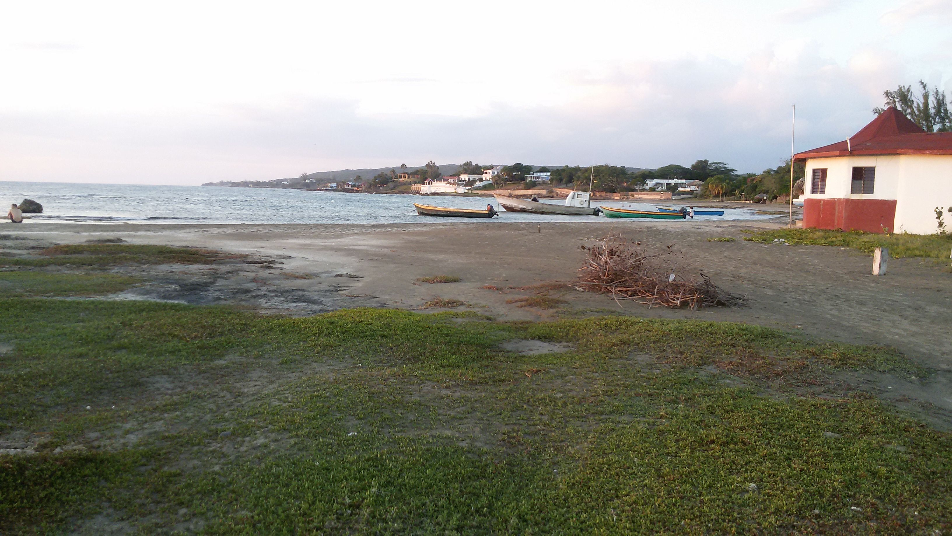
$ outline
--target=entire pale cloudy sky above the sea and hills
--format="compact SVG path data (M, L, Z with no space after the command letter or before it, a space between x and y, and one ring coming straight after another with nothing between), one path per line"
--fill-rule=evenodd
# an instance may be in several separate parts
M741 172L952 92L952 0L0 0L0 180L427 160Z

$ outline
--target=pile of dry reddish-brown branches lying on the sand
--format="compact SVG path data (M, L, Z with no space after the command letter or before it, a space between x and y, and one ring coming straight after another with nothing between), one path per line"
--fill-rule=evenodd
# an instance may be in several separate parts
M667 246L661 253L649 253L641 242L608 236L592 246L585 265L579 269L579 284L587 290L610 294L614 299L633 299L646 305L736 307L744 298L718 287L684 258ZM685 277L697 273L698 277Z

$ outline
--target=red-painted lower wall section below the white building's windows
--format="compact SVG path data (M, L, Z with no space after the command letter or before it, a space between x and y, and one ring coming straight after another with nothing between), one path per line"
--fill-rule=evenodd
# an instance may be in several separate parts
M893 230L895 199L804 199L803 227L885 233Z

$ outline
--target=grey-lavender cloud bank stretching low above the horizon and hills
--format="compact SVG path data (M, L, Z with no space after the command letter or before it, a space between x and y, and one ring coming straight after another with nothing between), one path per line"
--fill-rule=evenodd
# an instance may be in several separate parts
M872 58L872 59L871 59ZM873 61L875 59L875 61ZM400 162L658 167L707 158L742 172L855 133L902 60L880 50L840 65L814 49L744 61L634 61L565 72L565 102L496 102L483 113L361 113L358 98L297 97L203 113L0 113L0 179L195 184Z

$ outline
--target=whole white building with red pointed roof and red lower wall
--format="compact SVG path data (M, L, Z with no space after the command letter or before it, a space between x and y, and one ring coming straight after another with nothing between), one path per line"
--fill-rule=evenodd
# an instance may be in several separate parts
M952 223L952 133L926 133L895 108L794 160L806 168L803 227L927 235L936 207Z

